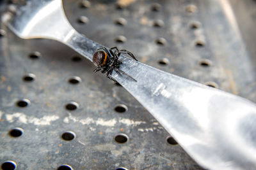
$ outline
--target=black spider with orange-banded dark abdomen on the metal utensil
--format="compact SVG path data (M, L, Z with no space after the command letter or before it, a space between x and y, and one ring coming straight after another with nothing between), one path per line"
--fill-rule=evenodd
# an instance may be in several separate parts
M132 59L137 60L131 52L128 52L127 50L118 50L116 46L110 48L109 50L105 47L101 47L93 54L92 61L93 64L97 66L94 73L102 69L101 73L107 73L107 77L110 80L113 80L113 78L109 77L109 74L115 70L117 73L124 74L125 76L128 76L132 80L136 81L134 78L119 69L120 64L122 64L122 62L118 60L121 53L128 54L132 57Z

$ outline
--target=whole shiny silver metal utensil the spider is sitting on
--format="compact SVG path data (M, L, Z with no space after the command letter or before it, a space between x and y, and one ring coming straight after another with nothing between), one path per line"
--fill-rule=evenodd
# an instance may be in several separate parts
M67 21L61 0L31 0L8 24L20 38L60 41L92 61L101 47ZM127 76L112 73L177 139L186 152L209 169L255 169L256 105L242 97L186 80L121 56Z

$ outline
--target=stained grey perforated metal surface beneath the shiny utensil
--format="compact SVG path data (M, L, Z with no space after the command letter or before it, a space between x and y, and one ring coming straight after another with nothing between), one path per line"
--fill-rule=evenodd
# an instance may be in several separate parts
M88 38L256 101L255 56L245 46L252 38L239 32L229 1L81 2L63 5ZM0 33L3 169L201 169L128 92L93 74L90 61L56 41L20 39L4 25Z

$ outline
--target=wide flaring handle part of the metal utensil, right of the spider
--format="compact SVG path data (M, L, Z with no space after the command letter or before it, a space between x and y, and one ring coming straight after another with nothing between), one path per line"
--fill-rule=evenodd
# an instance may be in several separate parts
M256 167L255 103L127 57L122 62L138 82L118 73L113 78L196 162L210 169Z

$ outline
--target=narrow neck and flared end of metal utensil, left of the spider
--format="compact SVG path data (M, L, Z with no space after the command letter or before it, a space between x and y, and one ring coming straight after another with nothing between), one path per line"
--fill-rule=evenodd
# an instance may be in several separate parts
M100 47L69 24L62 1L27 1L9 27L20 38L48 38L65 43L91 61L92 53Z

